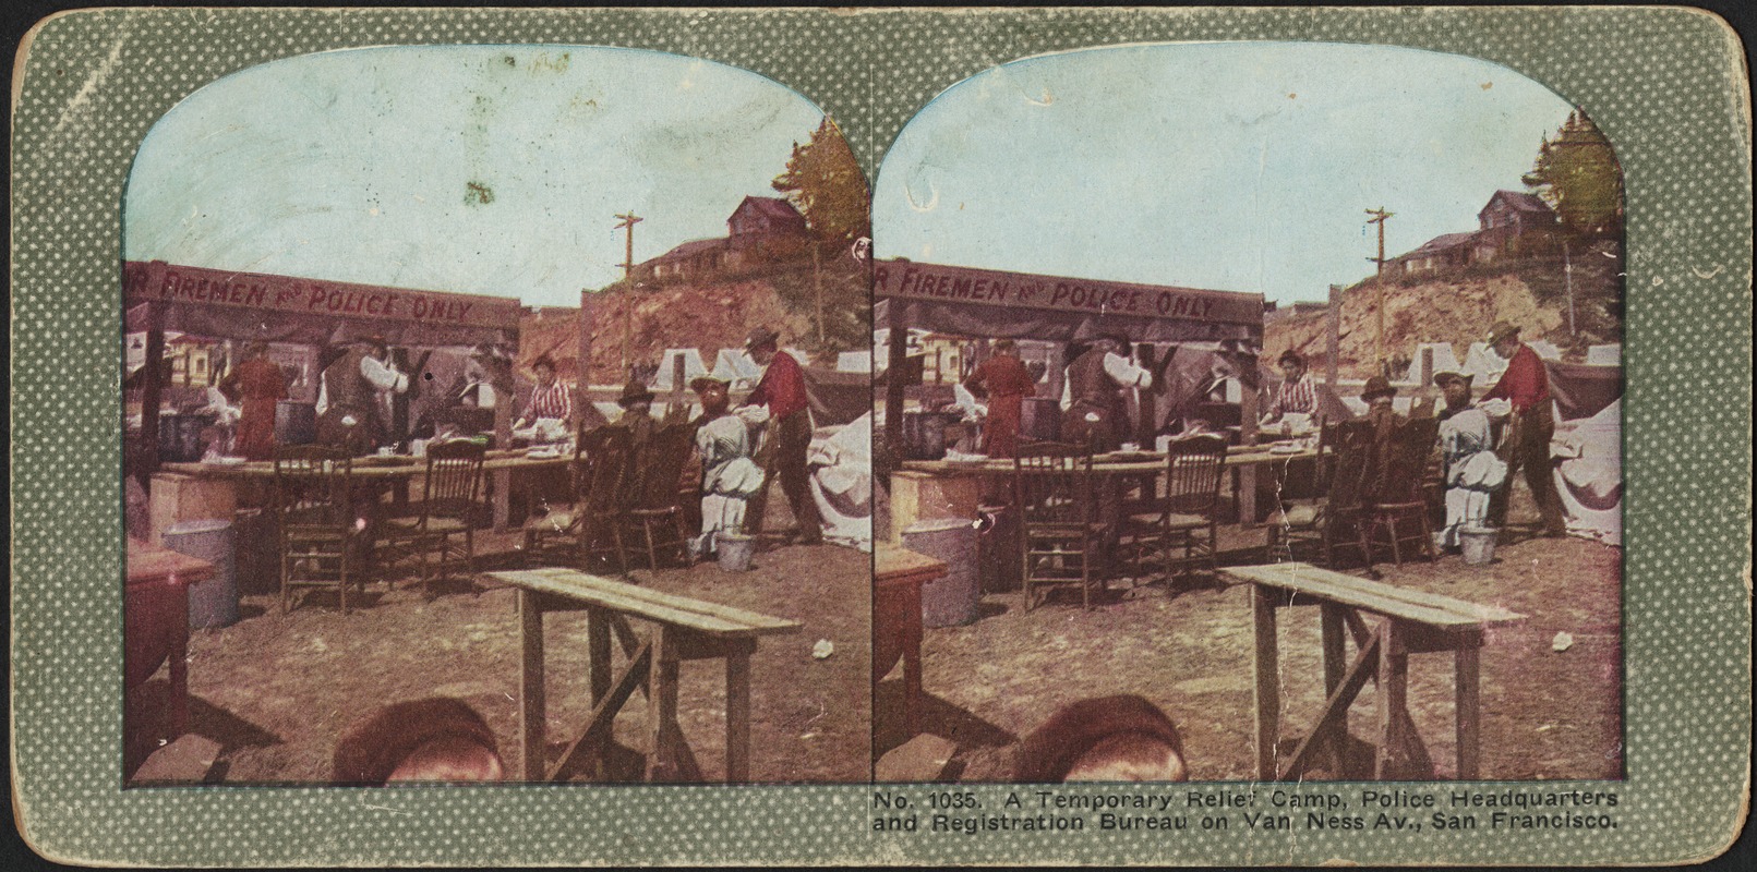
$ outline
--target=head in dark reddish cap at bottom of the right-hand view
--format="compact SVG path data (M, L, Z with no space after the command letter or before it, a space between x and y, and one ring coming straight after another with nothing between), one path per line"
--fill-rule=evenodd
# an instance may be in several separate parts
M1065 705L1024 737L1014 781L1188 781L1184 742L1158 705L1132 693Z

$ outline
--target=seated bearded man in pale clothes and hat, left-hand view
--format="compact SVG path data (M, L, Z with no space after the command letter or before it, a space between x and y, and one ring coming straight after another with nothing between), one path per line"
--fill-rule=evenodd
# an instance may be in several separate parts
M750 426L729 412L731 386L724 379L701 375L689 382L701 397L696 425L696 454L701 458L701 535L689 542L689 553L705 558L715 551L720 532L738 533L745 525L745 507L763 490L763 467L750 458ZM761 411L763 407L756 407Z

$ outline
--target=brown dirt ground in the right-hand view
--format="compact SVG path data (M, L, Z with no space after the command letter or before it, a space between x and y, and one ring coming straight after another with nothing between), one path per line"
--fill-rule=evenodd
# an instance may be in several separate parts
M1249 544L1244 533L1221 547ZM1263 533L1253 535L1260 544ZM1486 567L1458 556L1379 567L1388 584L1529 616L1488 632L1481 649L1483 779L1622 777L1620 565L1620 549L1604 544L1515 535ZM949 777L1009 781L1016 742L1056 709L1139 693L1177 723L1191 779L1253 779L1249 586L1184 584L1168 591L1123 579L1093 611L1074 591L1033 611L1016 591L991 593L975 623L926 630L922 726L956 742ZM1573 637L1565 651L1553 649L1557 633ZM1288 753L1323 707L1318 609L1281 609L1279 642ZM1457 772L1451 688L1450 654L1409 658L1411 716L1442 779ZM889 718L900 691L894 670L877 697L878 753L907 739ZM1349 712L1351 733L1370 739L1372 683Z

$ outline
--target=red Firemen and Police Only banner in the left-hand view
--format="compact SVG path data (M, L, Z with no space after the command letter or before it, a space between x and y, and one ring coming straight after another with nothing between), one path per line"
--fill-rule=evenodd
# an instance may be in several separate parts
M123 265L123 295L128 305L170 302L510 330L518 330L518 314L524 309L518 300L504 297L211 270L158 260L127 261Z

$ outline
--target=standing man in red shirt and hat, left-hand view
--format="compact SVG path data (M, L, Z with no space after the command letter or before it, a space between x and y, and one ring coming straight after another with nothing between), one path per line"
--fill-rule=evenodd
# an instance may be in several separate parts
M799 525L798 542L819 546L824 542L824 525L817 514L817 502L812 498L810 472L805 467L806 453L812 449L812 412L805 395L805 370L792 354L778 351L780 335L768 328L750 332L745 353L757 367L764 367L757 390L750 391L745 405L766 405L770 416L770 439L773 440L768 456L768 477L780 477L780 490L787 495L792 518ZM750 512L745 516L745 532L763 530L763 512L768 509L768 488L750 500Z

